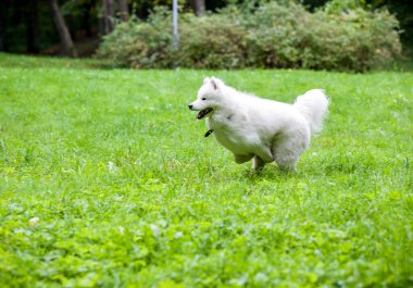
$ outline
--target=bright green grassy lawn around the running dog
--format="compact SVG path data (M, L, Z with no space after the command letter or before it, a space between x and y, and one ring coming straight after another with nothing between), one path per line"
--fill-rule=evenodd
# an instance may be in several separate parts
M0 287L413 285L412 73L93 66L0 54ZM297 175L203 137L212 75L326 89Z

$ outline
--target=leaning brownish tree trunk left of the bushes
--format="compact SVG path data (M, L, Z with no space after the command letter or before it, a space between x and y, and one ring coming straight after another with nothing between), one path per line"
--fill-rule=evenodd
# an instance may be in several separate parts
M67 25L64 22L62 12L60 11L58 0L50 0L50 7L53 13L54 25L58 29L60 41L63 46L64 53L71 58L77 57L75 47L68 33Z

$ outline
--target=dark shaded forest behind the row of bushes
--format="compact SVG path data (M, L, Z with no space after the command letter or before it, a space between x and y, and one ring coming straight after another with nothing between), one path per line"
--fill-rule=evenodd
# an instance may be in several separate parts
M254 5L247 0L179 1L184 11L197 15L214 12L228 4ZM309 10L327 0L299 1ZM400 22L404 52L413 43L413 9L410 0L361 1L367 9L387 8ZM1 0L0 51L29 54L67 54L89 57L101 37L113 30L116 22L130 16L145 20L158 5L172 7L172 0Z

